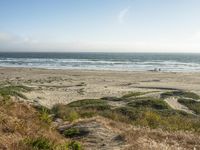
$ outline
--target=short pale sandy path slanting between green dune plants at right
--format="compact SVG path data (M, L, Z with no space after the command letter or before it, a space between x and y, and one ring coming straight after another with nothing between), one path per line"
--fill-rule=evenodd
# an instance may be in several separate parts
M190 114L194 114L193 111L188 109L186 106L180 104L178 102L178 99L175 98L175 97L166 98L165 102L167 102L167 104L170 105L173 109L185 111L185 112L190 113Z

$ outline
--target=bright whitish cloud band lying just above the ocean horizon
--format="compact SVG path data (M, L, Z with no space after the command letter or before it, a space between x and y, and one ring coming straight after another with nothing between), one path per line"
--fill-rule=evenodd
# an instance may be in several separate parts
M199 32L194 39L181 40L75 40L66 42L37 41L29 36L0 32L0 51L46 52L199 52ZM193 37L191 36L191 37Z

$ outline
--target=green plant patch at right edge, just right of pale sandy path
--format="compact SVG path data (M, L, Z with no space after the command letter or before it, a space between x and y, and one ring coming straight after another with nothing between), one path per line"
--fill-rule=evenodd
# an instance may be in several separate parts
M178 102L185 105L196 114L200 114L200 102L191 99L178 99Z

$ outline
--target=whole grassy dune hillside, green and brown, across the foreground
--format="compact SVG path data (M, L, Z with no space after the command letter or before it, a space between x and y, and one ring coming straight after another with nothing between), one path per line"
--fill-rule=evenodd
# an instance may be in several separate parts
M165 147L173 147L174 144L166 143L166 137L171 137L174 143L184 148L200 146L199 102L192 100L198 98L194 93L163 93L158 99L147 97L146 93L132 92L122 97L57 104L51 109L13 101L14 97L27 99L24 93L31 90L19 85L0 87L0 149L148 149L145 143L141 145L139 137L150 140L150 143L156 142L157 148L162 147L160 142ZM169 96L178 96L178 101L196 114L172 109L163 100ZM55 124L58 119L61 124ZM185 133L188 133L187 136ZM134 141L131 140L133 138ZM184 142L180 143L180 139Z

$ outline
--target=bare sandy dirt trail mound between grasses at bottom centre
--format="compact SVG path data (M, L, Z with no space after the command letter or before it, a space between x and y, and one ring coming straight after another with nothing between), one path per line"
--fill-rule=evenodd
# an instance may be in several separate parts
M87 135L74 138L84 143L87 150L123 150L125 141L120 136L120 132L113 130L101 117L100 119L86 119L71 126L64 125L58 130L76 128L87 131Z

